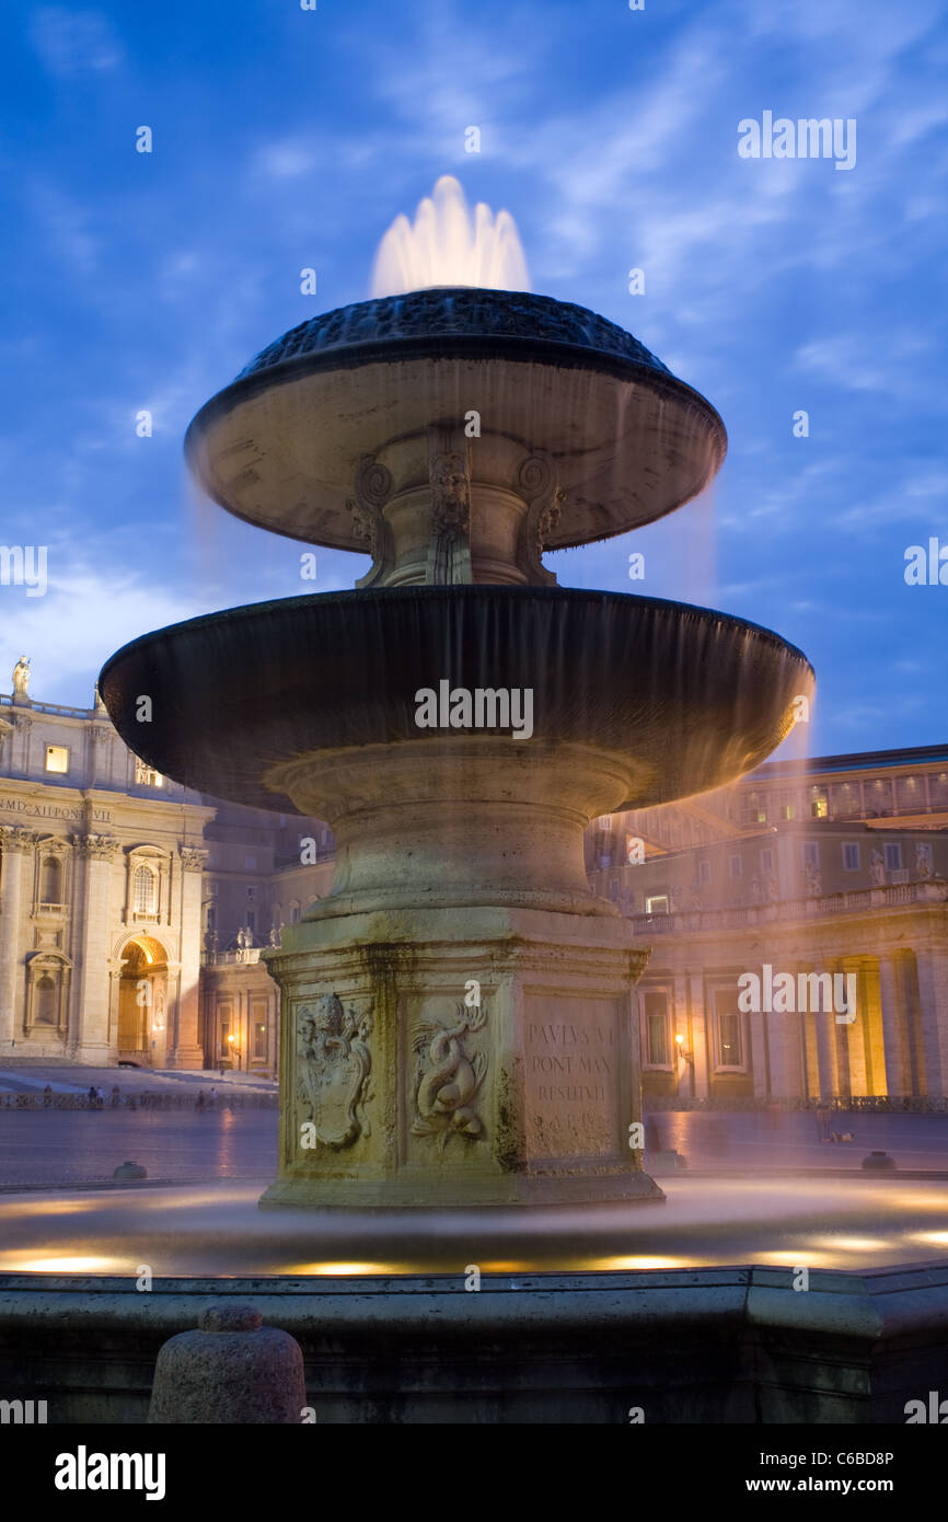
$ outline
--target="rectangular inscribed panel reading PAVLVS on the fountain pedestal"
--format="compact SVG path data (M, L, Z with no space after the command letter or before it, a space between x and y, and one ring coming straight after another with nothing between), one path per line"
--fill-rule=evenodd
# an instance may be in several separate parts
M615 1155L621 1053L616 1003L531 994L525 1035L530 1155Z

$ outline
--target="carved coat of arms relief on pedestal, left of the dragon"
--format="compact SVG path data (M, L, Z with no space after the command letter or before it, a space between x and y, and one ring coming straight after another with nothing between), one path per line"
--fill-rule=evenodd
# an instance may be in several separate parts
M371 1134L365 1106L371 1099L373 1017L344 1009L338 994L297 1009L297 1099L301 1122L317 1140L341 1149Z

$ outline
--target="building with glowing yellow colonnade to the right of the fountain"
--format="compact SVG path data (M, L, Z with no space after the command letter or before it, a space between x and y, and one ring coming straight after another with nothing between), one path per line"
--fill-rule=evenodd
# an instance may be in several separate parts
M587 864L651 947L647 1096L948 1096L948 747L768 763L598 820Z

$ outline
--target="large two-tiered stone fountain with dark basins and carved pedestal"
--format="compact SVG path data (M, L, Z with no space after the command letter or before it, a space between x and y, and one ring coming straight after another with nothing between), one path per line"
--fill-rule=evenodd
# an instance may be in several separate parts
M453 216L450 187L435 198ZM452 225L449 254L469 247ZM510 227L478 228L510 265ZM266 954L282 1125L262 1205L332 1213L341 1257L391 1212L425 1268L444 1210L473 1230L487 1207L530 1262L565 1205L572 1260L584 1212L592 1230L596 1207L663 1198L641 1158L648 953L589 890L583 831L758 766L813 673L724 613L561 589L543 556L671 513L724 447L714 408L613 323L457 282L301 323L190 425L228 511L371 556L356 591L190 619L99 677L149 766L335 831L330 895Z

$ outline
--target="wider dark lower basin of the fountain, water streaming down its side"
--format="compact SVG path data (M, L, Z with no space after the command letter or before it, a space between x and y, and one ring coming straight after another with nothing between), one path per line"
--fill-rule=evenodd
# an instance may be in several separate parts
M572 743L635 761L647 807L758 766L810 694L806 658L708 609L558 587L394 587L236 607L119 650L99 691L135 755L186 785L294 813L277 769L313 752L461 743L418 728L417 693L533 691L523 753ZM138 721L151 697L151 721ZM269 785L266 776L269 775ZM631 770L627 773L631 776Z

